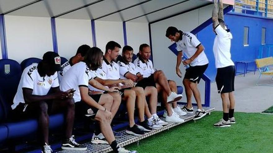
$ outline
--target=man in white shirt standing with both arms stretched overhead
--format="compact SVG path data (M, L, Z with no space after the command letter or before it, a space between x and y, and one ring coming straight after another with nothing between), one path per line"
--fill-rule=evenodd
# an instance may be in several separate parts
M218 93L221 94L223 104L223 118L216 124L215 127L230 126L230 123L235 123L234 108L234 79L235 66L231 60L230 44L232 34L226 28L223 13L223 1L219 0L220 7L218 11L218 0L214 0L213 7L213 31L216 36L213 44L213 53L215 57L215 66L217 75L215 78ZM218 11L218 12L217 12Z

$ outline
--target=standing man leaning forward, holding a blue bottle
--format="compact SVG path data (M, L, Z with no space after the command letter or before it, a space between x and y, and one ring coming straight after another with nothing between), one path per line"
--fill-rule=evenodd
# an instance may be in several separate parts
M208 68L208 58L204 53L204 47L194 34L190 32L182 32L175 27L168 27L166 37L171 41L175 41L177 45L177 75L182 78L179 66L182 61L183 51L188 57L188 59L183 61L183 64L185 66L190 66L186 69L186 74L183 79L183 84L186 90L187 104L184 106L184 108L182 108L182 110L187 113L193 113L191 103L191 97L193 94L198 106L198 110L195 112L194 120L200 119L206 115L206 112L202 108L201 96L197 87L202 75Z

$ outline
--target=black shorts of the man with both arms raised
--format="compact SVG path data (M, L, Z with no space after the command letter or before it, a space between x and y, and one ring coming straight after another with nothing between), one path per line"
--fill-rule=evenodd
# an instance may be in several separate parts
M234 91L235 66L227 66L217 69L216 84L218 93Z

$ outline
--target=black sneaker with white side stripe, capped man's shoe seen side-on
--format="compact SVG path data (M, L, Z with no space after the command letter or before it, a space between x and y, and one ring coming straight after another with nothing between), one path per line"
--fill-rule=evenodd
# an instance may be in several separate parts
M75 139L74 135L72 135L69 139L66 139L62 143L62 149L64 150L87 150L87 147L84 145L78 144Z

